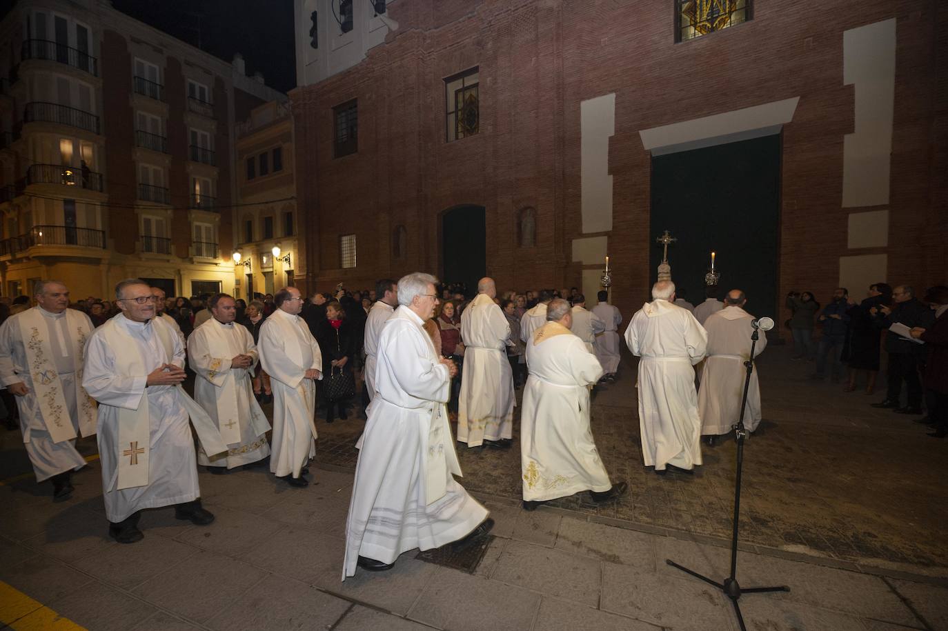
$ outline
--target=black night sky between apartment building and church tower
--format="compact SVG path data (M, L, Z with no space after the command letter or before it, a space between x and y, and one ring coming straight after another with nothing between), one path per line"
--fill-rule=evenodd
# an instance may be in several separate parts
M281 92L296 86L293 0L113 0L113 6L226 62L244 55ZM200 15L198 18L196 16Z

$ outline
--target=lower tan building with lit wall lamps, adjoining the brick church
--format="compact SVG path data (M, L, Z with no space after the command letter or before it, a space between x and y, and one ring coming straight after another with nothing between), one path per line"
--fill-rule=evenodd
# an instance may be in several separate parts
M297 239L293 117L281 101L260 105L237 124L238 207L235 296L272 294L304 269Z

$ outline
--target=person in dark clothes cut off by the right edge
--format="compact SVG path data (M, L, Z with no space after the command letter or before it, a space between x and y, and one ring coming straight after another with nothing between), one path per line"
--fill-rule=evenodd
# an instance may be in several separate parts
M932 287L925 301L935 312L935 323L925 329L915 327L912 337L921 339L928 349L925 362L925 401L928 418L935 425L932 438L948 436L948 287Z

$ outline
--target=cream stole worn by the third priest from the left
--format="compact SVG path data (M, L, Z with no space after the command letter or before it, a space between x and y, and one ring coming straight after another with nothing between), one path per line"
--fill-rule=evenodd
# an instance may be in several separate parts
M237 330L236 327L241 327ZM224 442L230 444L240 444L240 410L237 408L237 376L241 371L246 372L247 376L253 376L253 365L246 369L220 370L223 365L220 362L221 357L233 357L235 352L247 354L246 344L239 343L238 349L231 345L235 337L243 337L242 334L249 336L239 324L232 324L229 327L221 324L214 318L198 327L198 331L205 334L207 340L206 352L210 356L210 370L207 372L207 379L214 386L220 389L217 392L217 425L221 431L221 437ZM195 332L197 333L197 332ZM196 341L196 340L195 340ZM204 351L204 349L195 349L195 352ZM218 366L214 366L218 363ZM199 378L203 375L199 375ZM263 436L270 429L270 424L266 422L264 410L253 397L250 397L250 409L247 410L250 415L250 426L253 428L254 436ZM207 451L207 448L205 448Z

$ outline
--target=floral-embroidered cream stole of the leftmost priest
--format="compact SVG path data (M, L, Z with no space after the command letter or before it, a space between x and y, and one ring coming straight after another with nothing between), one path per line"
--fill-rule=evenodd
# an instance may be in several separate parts
M88 320L79 312L65 310L66 329L71 342L72 365L75 370L76 413L79 417L79 429L82 436L96 433L96 402L82 388L82 352L85 340L92 332ZM23 312L17 321L23 336L23 349L27 354L27 369L36 393L36 405L43 414L43 422L53 442L71 441L76 438L76 429L69 419L69 407L66 406L63 382L56 370L52 347L49 344L51 326L46 316L40 313L40 307Z

